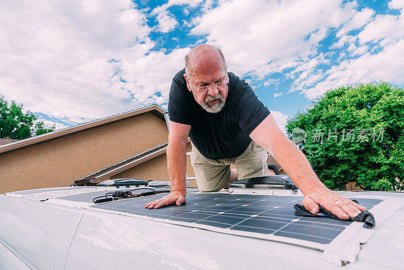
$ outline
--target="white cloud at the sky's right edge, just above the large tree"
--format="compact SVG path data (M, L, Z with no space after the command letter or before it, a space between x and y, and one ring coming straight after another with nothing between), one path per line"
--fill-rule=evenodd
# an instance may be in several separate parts
M349 47L341 52L341 62L323 74L324 81L302 89L305 97L315 99L328 89L346 84L382 80L396 84L404 83L402 76L404 9L402 9L402 2L400 1L392 1L388 6L391 9L400 9L401 13L398 16L377 15L363 28L357 38L343 35L337 43L334 43L334 47L340 48L342 47L341 44L349 42ZM367 45L367 42L374 43L372 49ZM376 51L378 48L381 50ZM346 55L356 58L346 59Z

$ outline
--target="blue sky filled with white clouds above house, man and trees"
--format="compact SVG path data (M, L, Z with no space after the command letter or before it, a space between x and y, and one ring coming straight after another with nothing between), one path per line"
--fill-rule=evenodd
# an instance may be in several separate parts
M404 83L404 0L0 3L0 94L57 128L150 104L196 44L283 126L328 89Z

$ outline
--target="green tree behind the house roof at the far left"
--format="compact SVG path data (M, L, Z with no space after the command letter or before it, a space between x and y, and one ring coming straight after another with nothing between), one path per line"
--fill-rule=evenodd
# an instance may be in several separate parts
M0 138L21 140L53 130L55 126L46 126L30 111L24 113L22 104L9 105L0 95Z

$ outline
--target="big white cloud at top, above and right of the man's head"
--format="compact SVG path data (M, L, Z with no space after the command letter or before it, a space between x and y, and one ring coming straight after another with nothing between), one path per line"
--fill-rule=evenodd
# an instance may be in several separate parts
M356 3L327 1L225 1L195 20L191 34L207 35L229 69L259 78L298 65L317 53L327 30L355 14Z

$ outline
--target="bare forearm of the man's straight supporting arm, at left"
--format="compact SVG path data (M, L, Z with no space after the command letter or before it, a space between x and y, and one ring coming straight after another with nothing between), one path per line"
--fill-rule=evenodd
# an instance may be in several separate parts
M170 140L167 147L168 174L171 181L171 192L186 193L186 145L182 139Z

